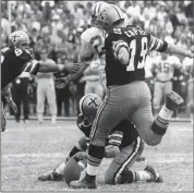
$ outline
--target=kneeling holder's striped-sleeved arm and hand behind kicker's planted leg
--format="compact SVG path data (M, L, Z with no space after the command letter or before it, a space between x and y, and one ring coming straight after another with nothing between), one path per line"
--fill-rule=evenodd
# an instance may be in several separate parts
M120 153L120 145L123 138L122 131L114 131L111 135L109 135L109 145L105 148L106 158L113 158Z

